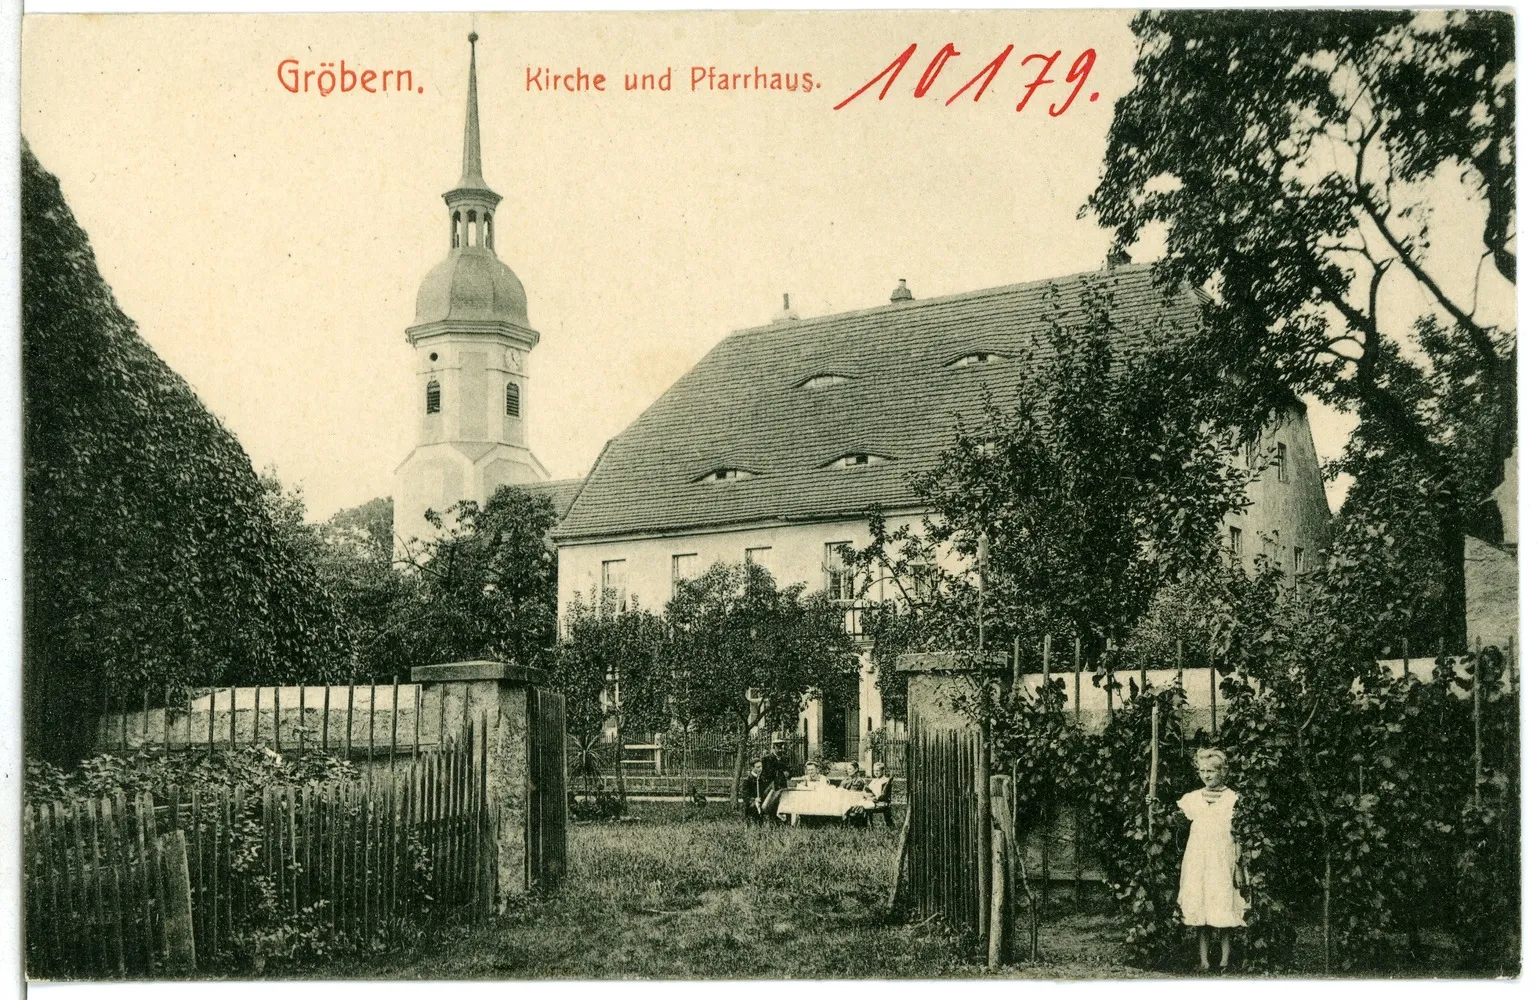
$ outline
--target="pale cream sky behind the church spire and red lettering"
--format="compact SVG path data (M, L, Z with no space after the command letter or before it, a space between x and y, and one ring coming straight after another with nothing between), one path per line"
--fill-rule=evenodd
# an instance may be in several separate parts
M448 252L472 28L497 251L543 335L529 442L557 478L784 292L807 317L884 303L898 278L926 297L1104 260L1080 208L1132 83L1124 12L29 17L23 135L141 335L311 517L388 495L414 443L404 328ZM960 55L915 98L947 42ZM835 111L910 43L884 100ZM1007 45L983 98L947 106ZM1037 75L1020 58L1057 49L1060 83L1017 111ZM411 69L414 89L294 94L285 58ZM669 92L624 91L669 66ZM812 89L695 89L695 66ZM608 89L532 88L544 68ZM1337 455L1349 422L1310 417Z

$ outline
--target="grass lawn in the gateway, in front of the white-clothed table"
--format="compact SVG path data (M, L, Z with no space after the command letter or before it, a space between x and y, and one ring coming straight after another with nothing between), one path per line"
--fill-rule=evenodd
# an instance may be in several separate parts
M724 803L632 803L634 822L571 829L555 891L414 955L325 969L340 978L937 978L984 975L930 926L884 917L897 831L749 828ZM1147 975L1107 917L1041 928L1046 962L1009 975Z

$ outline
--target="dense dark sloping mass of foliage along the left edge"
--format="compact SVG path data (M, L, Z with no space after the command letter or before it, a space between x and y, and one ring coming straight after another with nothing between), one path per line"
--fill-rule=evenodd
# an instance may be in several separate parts
M22 148L25 725L72 760L108 700L328 680L345 637L251 460L146 345Z

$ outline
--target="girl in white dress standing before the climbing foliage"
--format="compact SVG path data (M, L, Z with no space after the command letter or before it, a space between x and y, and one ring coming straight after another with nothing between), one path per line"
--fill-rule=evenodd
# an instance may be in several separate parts
M1218 971L1229 968L1232 928L1244 926L1240 895L1240 851L1233 842L1233 806L1238 792L1224 785L1227 757L1220 749L1197 752L1201 788L1186 792L1180 811L1190 820L1186 857L1180 866L1180 912L1186 926L1197 928L1201 969L1210 971L1207 945L1218 932Z

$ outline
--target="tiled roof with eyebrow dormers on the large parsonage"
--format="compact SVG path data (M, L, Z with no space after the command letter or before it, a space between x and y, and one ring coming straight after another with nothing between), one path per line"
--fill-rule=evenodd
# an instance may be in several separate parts
M1014 355L1038 343L1058 288L1064 317L1081 315L1086 282L1110 285L1118 340L1160 325L1190 328L1195 292L1169 295L1152 268L1007 285L877 309L758 326L731 334L609 442L557 540L667 532L764 520L860 515L872 503L917 506L915 472L975 422L987 394L1007 405L1020 378ZM947 368L974 352L1010 357ZM851 377L800 386L817 374ZM829 468L849 454L884 462ZM715 469L752 475L700 482Z

